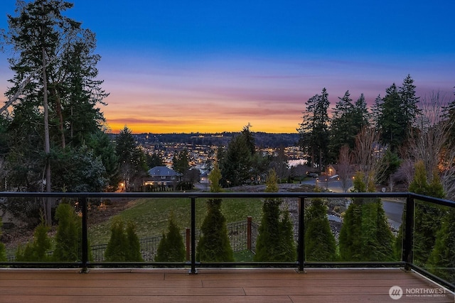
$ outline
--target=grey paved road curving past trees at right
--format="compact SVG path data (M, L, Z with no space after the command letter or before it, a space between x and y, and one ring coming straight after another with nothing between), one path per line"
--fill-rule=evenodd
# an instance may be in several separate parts
M341 181L339 180L328 180L326 182L325 179L323 180L309 180L302 182L303 184L310 184L315 185L316 183L319 187L331 189L333 192L343 192L343 187L341 187ZM384 207L385 215L389 220L390 225L397 229L400 227L402 223L402 214L403 209L405 207L405 200L404 199L382 199L382 206Z

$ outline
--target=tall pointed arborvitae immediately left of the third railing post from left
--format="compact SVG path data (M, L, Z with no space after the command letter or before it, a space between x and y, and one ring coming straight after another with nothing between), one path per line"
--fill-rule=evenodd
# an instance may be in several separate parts
M277 174L269 171L265 192L278 192ZM296 246L289 211L280 211L281 199L267 198L262 206L262 221L257 236L255 261L294 262ZM282 215L282 218L280 219Z

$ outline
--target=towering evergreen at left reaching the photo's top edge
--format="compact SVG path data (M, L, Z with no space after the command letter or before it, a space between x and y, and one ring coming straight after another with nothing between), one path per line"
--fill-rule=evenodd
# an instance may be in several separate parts
M102 81L95 79L100 58L92 55L95 35L63 15L72 7L63 0L18 1L17 16L8 16L9 31L4 35L16 54L9 59L14 72L6 92L10 101L1 109L12 107L9 145L17 162L23 163L17 168L33 172L28 184L36 187L45 180L39 190L46 192L53 189L52 179L58 179L50 175L50 160L57 154L51 149L64 149L68 139L73 146L82 144L104 120L97 109L107 94L100 89ZM50 206L46 199L48 225Z

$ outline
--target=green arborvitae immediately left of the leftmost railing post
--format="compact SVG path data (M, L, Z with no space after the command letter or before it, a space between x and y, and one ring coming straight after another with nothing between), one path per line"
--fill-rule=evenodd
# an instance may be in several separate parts
M82 259L82 219L73 206L61 203L55 210L58 220L53 259L58 262L76 262Z

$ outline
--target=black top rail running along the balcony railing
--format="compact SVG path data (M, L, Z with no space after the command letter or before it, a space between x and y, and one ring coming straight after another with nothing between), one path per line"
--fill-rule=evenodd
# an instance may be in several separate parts
M54 198L408 198L455 207L447 199L412 192L0 192L0 197Z

